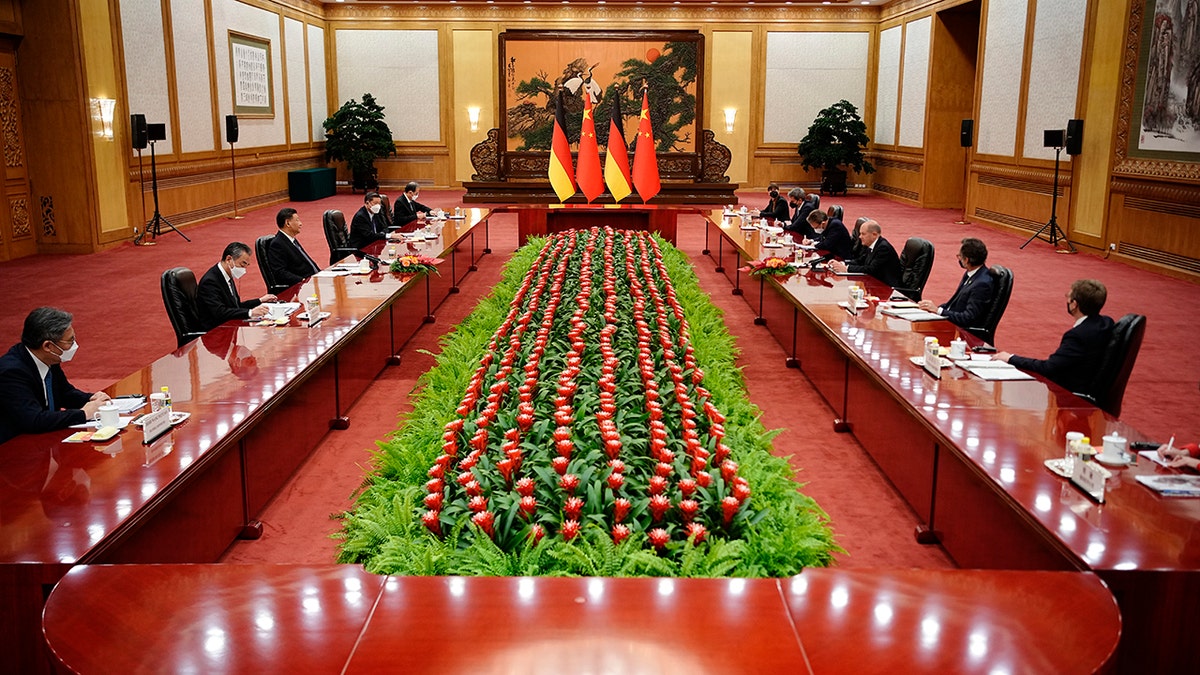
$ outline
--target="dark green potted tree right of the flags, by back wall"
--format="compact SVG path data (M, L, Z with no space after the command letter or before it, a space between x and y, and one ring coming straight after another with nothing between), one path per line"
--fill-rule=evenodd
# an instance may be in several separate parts
M858 108L850 101L838 101L821 110L809 133L796 148L803 160L804 171L812 167L823 169L821 192L846 193L846 169L858 173L875 173L875 167L863 157L863 150L871 139L866 125L858 117Z

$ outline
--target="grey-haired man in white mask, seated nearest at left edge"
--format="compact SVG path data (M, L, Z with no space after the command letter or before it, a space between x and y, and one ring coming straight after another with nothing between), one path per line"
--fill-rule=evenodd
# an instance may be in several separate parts
M0 357L0 443L83 424L108 400L76 389L62 372L79 350L71 322L68 312L37 307L25 317L20 344Z

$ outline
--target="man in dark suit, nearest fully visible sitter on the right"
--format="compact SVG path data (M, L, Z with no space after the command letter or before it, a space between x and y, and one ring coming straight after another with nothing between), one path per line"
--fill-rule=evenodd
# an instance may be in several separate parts
M1045 360L997 352L995 359L1010 363L1021 370L1045 376L1068 392L1094 394L1093 376L1112 333L1112 319L1102 315L1109 292L1093 279L1080 279L1067 293L1067 313L1075 325L1062 336L1058 350Z

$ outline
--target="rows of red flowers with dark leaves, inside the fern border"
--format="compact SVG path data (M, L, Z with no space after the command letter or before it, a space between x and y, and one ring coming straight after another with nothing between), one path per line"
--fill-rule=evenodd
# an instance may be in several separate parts
M421 521L505 550L586 527L660 552L738 536L751 489L703 378L650 235L551 235L444 428Z

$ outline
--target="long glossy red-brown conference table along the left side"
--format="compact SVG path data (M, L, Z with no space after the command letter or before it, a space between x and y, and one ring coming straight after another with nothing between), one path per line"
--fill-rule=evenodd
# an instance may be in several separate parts
M397 244L442 257L439 275L323 271L281 294L317 295L330 316L316 325L229 322L114 383L113 396L167 386L190 413L150 444L130 425L107 443L55 431L0 446L0 669L48 670L42 607L72 567L215 562L257 538L264 506L476 268L490 215L466 209L436 239Z

